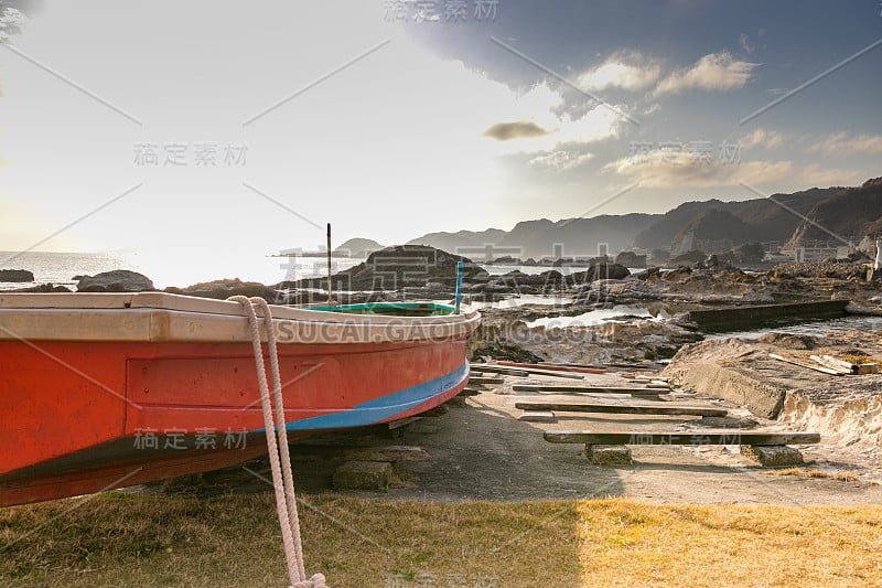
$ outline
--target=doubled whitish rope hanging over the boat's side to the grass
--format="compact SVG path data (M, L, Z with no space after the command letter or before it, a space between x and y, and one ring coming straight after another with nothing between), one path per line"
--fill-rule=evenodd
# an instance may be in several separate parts
M297 495L294 494L294 480L291 474L291 458L288 453L288 429L284 423L284 403L282 400L282 384L279 374L279 355L276 349L276 333L272 330L272 312L262 298L246 298L234 296L229 300L239 302L248 316L248 325L251 330L251 346L255 352L257 366L257 383L260 387L260 402L263 407L263 428L267 431L267 450L269 464L272 470L272 487L276 490L276 512L279 515L279 525L282 530L284 544L284 558L288 563L288 576L291 588L326 588L324 576L315 574L306 579L303 566L303 544L300 538L300 518L297 513ZM260 346L260 324L257 320L255 306L263 312L263 322L267 331L267 351L269 355L270 372L272 375L272 398L276 404L276 420L273 421L272 400L269 396L263 352ZM276 426L278 423L278 426Z

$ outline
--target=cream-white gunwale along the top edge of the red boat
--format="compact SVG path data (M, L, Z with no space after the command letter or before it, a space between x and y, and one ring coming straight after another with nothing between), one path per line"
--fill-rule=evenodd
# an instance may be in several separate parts
M346 314L271 306L281 344L389 343L459 339L480 316ZM250 341L238 302L164 292L0 295L0 340L224 342Z

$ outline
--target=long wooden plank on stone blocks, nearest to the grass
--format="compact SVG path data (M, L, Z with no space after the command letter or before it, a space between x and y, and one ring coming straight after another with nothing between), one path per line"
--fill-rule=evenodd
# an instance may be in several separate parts
M545 440L551 443L588 445L807 445L820 442L817 432L756 432L707 430L691 432L652 431L546 431Z

